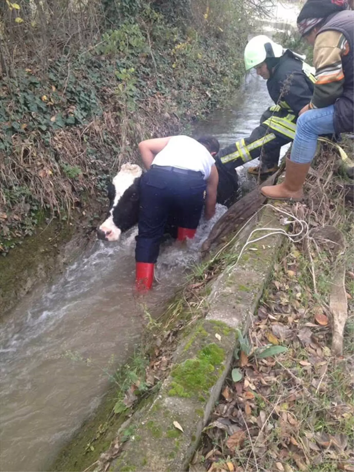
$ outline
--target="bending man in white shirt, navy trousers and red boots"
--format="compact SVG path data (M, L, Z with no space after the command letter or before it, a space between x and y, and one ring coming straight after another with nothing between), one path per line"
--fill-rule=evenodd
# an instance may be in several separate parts
M140 180L140 208L136 237L136 288L152 286L165 224L177 222L177 239L194 237L202 209L211 219L215 213L218 170L214 156L219 141L211 136L195 140L189 136L169 136L139 143L147 172Z

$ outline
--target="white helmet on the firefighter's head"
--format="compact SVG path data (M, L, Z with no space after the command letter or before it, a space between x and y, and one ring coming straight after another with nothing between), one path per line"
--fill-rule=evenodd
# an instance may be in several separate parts
M244 48L244 66L246 70L250 70L267 58L280 58L284 52L283 46L268 36L254 36Z

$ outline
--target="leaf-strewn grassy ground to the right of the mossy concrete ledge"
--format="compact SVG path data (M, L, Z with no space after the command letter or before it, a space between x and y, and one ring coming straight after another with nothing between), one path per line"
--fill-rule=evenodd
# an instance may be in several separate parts
M289 244L275 264L249 346L244 341L235 353L194 456L198 469L190 466L190 472L354 471L354 219L350 207L344 210L337 181L326 177L333 167L325 153L307 183L311 204L290 208L319 228L326 245L312 234L303 246ZM329 308L338 228L350 236L340 262L347 261L352 313L339 356L331 352Z

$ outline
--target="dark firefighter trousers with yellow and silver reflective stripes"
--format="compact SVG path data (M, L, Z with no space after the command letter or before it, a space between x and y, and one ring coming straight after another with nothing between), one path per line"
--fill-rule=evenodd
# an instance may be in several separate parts
M296 120L291 110L273 105L263 113L260 126L250 136L219 151L221 163L228 169L236 169L262 154L262 161L268 167L277 165L280 148L295 138Z

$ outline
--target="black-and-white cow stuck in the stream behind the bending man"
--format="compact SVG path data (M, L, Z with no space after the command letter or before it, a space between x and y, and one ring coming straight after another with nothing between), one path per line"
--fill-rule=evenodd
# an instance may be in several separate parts
M219 172L219 186L217 202L227 207L236 200L237 174L230 177L227 171L216 165ZM143 169L137 164L123 164L118 174L108 185L110 201L106 219L97 230L97 237L103 241L118 241L120 235L135 226L139 215L139 181ZM177 225L173 215L166 224L166 235L177 237Z

